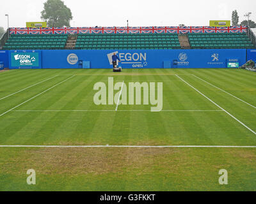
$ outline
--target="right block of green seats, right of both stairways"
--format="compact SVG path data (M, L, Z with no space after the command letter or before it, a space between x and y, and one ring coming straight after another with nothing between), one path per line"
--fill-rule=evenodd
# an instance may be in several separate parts
M252 41L244 33L189 33L188 38L191 48L254 48Z

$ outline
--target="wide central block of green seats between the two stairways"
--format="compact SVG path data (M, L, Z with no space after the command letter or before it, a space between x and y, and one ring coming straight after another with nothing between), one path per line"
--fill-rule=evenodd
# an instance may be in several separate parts
M179 49L177 34L79 34L76 49Z

